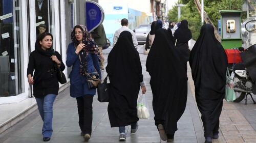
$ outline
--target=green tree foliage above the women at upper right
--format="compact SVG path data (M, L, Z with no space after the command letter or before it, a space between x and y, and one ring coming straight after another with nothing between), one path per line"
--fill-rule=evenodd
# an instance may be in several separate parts
M201 2L201 1L200 1ZM188 26L192 32L192 38L196 40L200 35L201 14L198 12L194 0L179 0L178 3L169 10L168 20L178 21L178 4L186 5L181 7L181 18L188 21ZM207 13L211 21L218 27L218 19L220 19L220 10L241 10L243 0L208 0L204 1L204 11ZM242 12L242 19L246 18L246 12Z

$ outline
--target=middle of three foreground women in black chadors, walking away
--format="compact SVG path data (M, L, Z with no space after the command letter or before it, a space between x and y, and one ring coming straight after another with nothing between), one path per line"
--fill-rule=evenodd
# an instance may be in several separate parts
M170 41L164 28L156 36L146 60L153 94L155 125L162 140L173 141L177 122L187 101L187 74L182 53Z

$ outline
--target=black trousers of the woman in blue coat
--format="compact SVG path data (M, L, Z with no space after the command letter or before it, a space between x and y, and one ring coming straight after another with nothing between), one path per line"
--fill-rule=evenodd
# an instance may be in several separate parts
M93 95L87 94L76 98L79 117L79 127L84 134L92 133Z

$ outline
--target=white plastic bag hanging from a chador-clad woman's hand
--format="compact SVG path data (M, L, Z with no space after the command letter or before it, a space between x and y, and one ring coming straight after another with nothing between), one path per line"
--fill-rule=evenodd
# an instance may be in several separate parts
M149 119L150 111L147 105L146 97L144 94L141 94L137 102L137 113L139 119Z

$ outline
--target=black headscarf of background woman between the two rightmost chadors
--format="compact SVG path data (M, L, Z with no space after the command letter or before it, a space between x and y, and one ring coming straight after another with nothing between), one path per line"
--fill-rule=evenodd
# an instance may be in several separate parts
M192 33L188 28L187 20L182 20L179 28L174 33L174 38L180 42L186 43L192 38Z

